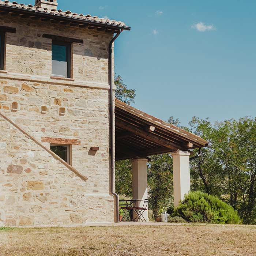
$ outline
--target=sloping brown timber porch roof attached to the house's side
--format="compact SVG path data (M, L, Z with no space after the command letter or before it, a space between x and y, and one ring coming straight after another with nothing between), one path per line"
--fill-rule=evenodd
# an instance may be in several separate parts
M189 150L208 142L116 99L116 160Z

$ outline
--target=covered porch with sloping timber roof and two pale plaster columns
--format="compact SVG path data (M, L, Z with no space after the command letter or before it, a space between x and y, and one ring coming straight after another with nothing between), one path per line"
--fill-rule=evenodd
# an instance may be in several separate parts
M208 142L118 99L115 102L115 130L115 160L132 159L132 199L137 200L136 206L132 208L136 208L137 213L134 209L127 209L133 210L131 219L148 222L145 200L148 199L147 162L150 161L150 155L172 153L174 206L177 206L190 191L191 150L206 147ZM115 204L119 208L119 202ZM115 219L118 222L118 216Z

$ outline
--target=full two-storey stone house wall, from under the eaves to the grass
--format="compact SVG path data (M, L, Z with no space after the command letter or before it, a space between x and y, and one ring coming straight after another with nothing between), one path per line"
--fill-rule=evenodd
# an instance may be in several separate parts
M88 178L85 182L75 176L1 119L0 226L113 222L108 109L108 44L113 35L8 15L0 16L0 26L16 27L16 34L6 34L0 112L38 141L79 141L72 145L72 166ZM50 78L51 39L42 38L44 33L84 40L83 45L72 44L72 79ZM47 140L42 144L50 147Z

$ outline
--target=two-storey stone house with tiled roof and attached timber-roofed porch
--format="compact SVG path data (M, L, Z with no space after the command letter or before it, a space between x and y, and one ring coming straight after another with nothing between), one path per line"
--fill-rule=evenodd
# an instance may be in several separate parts
M114 100L113 42L128 26L57 5L0 1L0 226L118 222L114 161L133 159L143 200L147 157L165 152L177 204L189 150L207 142Z

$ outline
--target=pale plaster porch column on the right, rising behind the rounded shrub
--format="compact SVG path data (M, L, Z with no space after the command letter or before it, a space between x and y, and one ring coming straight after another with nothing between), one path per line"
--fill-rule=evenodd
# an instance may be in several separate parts
M174 207L178 206L180 200L190 191L189 156L188 151L178 150L172 153Z

